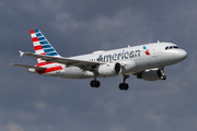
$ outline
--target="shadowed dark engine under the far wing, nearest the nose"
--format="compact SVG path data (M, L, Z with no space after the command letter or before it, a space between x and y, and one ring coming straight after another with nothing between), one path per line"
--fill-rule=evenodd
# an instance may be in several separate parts
M146 81L166 80L166 76L164 75L164 71L162 69L144 70L140 74L138 74L137 78L143 79Z

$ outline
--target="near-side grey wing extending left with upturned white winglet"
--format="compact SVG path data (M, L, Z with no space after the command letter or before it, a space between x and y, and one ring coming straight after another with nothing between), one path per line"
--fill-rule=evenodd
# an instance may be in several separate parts
M83 70L88 70L85 66L99 66L103 64L101 62L94 62L94 61L84 61L84 60L76 60L76 59L69 59L69 58L62 58L62 57L53 57L53 56L45 56L45 55L36 55L33 52L22 52L20 51L21 57L23 55L30 56L30 57L35 57L35 58L40 58L42 60L46 60L47 62L57 62L57 63L62 63L67 64L67 67L73 66L73 67L79 67Z

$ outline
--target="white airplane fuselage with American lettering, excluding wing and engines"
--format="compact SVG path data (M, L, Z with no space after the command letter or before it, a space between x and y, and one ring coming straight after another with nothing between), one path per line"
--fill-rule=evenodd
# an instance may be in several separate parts
M95 61L101 63L119 62L125 67L120 74L138 73L143 70L164 68L183 61L187 57L187 52L179 48L165 49L170 46L176 46L172 43L153 43L127 48L120 48L108 51L96 51L94 53L70 57L69 59ZM147 52L148 51L148 52ZM65 78L65 79L91 79L94 73L81 70L78 67L53 63L45 66L47 68L61 66L62 70L43 73L43 75ZM108 64L109 66L109 64ZM97 78L108 78L116 75L97 75Z

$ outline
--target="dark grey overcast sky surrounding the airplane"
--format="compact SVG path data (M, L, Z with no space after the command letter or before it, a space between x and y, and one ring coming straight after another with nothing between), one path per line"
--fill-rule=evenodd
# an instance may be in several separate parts
M1 0L1 131L196 131L196 0ZM65 57L127 45L171 41L188 52L166 67L166 81L130 75L66 80L28 73L10 63L36 64L19 57L34 51L30 31L38 28Z

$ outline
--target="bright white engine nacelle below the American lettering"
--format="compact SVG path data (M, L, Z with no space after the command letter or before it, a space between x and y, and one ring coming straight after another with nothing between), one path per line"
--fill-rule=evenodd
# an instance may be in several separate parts
M121 64L118 62L101 64L97 72L102 76L115 76L121 73Z

